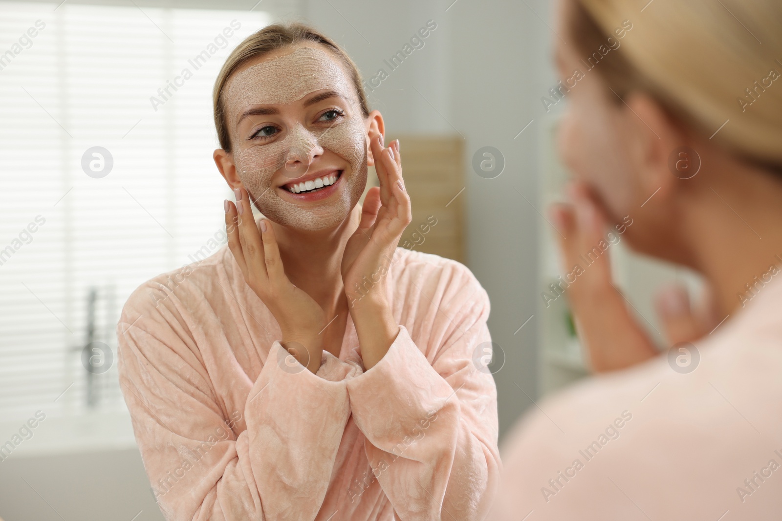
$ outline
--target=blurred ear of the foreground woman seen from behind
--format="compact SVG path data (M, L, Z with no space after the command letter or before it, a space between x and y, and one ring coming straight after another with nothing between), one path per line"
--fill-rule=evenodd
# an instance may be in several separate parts
M671 154L684 145L692 145L683 125L650 95L636 92L626 99L624 112L628 158L633 172L640 177L639 197L655 194L658 200L671 197L680 178L670 170Z

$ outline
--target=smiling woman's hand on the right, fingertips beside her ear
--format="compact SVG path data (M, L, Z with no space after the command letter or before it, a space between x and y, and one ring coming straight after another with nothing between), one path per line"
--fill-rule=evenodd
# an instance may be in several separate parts
M412 220L399 141L383 148L378 136L369 146L380 187L371 187L364 198L361 222L345 245L342 261L345 294L367 369L382 359L396 337L398 326L391 316L386 275L402 232Z

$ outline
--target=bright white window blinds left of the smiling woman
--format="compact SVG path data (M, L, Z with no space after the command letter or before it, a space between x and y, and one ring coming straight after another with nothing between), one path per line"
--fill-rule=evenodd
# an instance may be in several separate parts
M223 226L229 194L211 157L211 88L231 48L270 21L262 6L58 4L0 2L4 420L87 409L88 338L116 353L114 328L131 291L192 262ZM169 81L178 90L163 99L158 89ZM152 96L163 101L157 110ZM93 147L113 159L105 177L82 168ZM90 377L99 409L124 408L116 356Z

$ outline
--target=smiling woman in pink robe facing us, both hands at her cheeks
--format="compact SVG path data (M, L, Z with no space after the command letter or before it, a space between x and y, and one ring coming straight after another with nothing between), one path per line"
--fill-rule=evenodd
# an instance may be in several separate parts
M231 52L213 101L228 245L142 284L117 327L167 519L481 519L499 466L488 298L458 262L397 248L400 144L356 66L273 25Z

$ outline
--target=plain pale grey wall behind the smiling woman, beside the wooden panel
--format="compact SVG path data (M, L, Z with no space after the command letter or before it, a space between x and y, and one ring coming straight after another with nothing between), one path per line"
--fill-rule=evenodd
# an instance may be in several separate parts
M460 197L467 199L467 263L489 293L493 341L507 358L495 374L501 437L532 405L516 384L536 398L536 318L514 332L535 312L541 217L516 190L536 204L536 123L544 113L540 97L554 83L549 61L555 36L532 10L551 25L551 7L543 0L452 2L304 0L302 9L368 77L427 20L437 23L425 47L391 73L370 100L386 116L390 133L455 133L455 127L466 139L468 184ZM472 170L473 153L486 145L506 160L504 172L493 180Z

